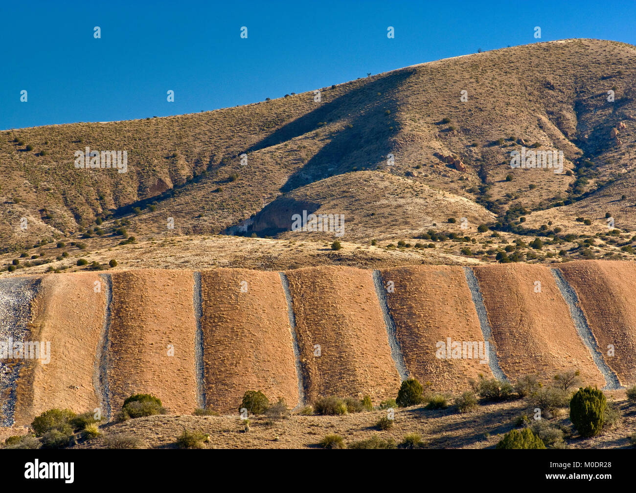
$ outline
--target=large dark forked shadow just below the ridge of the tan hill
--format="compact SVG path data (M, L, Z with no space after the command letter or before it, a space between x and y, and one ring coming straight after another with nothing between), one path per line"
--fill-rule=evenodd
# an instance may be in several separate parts
M350 172L356 167L375 165L391 153L392 138L399 127L395 120L397 89L414 72L401 70L373 78L331 102L317 103L319 106L314 111L275 130L248 151L257 151L321 130L319 123L340 120L349 122L347 127L327 135L331 141L291 175L280 191L293 190L328 176Z

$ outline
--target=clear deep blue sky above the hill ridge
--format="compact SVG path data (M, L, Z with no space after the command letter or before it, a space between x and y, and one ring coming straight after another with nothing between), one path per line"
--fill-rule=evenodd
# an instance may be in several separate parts
M636 44L635 1L1 3L0 129L263 101L478 48L536 43L537 25L540 41ZM166 101L169 89L175 102Z

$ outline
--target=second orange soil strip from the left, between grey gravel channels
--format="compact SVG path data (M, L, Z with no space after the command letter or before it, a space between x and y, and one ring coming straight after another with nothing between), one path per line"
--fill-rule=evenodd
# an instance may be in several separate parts
M109 331L111 416L132 394L153 394L174 413L197 407L191 270L113 272ZM169 345L174 356L169 356Z

